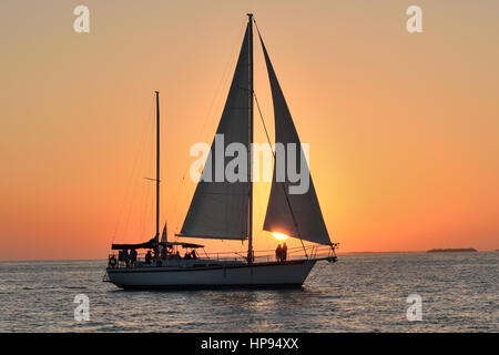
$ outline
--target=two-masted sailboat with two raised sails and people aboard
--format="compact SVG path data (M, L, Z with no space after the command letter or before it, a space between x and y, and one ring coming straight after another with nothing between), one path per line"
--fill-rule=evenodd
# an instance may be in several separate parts
M336 262L335 248L327 232L317 200L312 176L305 193L291 193L295 182L286 175L277 179L274 161L271 195L267 203L264 231L277 232L302 242L303 254L296 257L259 257L253 250L253 182L252 150L255 95L253 90L253 27L256 22L248 13L248 22L241 47L237 64L226 99L225 108L212 143L202 178L195 189L191 205L177 237L195 237L228 241L246 241L247 253L240 257L212 257L198 255L195 251L203 245L183 242L169 242L165 230L160 241L160 93L156 101L156 233L142 244L112 244L104 281L125 290L155 288L214 288L214 287L302 287L310 270L318 261ZM275 142L294 146L294 158L302 169L308 166L301 160L304 151L293 123L286 100L277 81L268 52L258 28L259 42L271 83L274 104ZM257 101L256 101L257 103ZM242 143L247 149L247 179L228 182L206 179L212 165L227 163L227 158L214 153L216 136L222 135L225 144ZM268 136L268 135L267 135ZM271 143L271 142L269 142ZM274 153L275 158L275 153ZM288 156L289 158L289 156ZM218 159L218 161L217 161ZM212 176L210 176L212 178ZM165 226L166 227L166 226ZM303 241L314 243L305 246ZM165 251L159 255L159 248ZM173 253L179 248L192 250L185 257ZM150 250L145 260L129 256L128 251ZM152 256L151 251L154 251ZM131 255L132 253L130 253ZM187 257L187 255L190 257ZM192 256L191 256L192 255Z

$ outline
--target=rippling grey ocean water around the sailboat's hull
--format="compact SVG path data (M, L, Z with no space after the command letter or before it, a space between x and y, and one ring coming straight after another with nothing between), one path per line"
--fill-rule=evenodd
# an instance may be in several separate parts
M0 332L499 332L497 252L343 255L293 291L122 291L105 265L0 262ZM410 294L421 321L407 320Z

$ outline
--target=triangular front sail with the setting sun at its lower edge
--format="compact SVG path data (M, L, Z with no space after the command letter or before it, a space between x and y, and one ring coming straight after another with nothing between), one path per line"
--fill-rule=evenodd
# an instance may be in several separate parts
M289 156L287 156L287 154L289 154L289 149L293 148L293 145L288 145L288 143L294 143L294 148L296 149L294 152L294 156L296 158L295 166L308 171L307 165L301 166L303 162L305 164L307 163L304 158L304 151L301 145L298 133L296 132L289 109L287 108L286 100L284 99L283 91L281 90L281 85L277 81L277 77L272 67L262 37L259 37L259 40L265 54L268 79L271 82L272 100L274 102L275 142L276 144L282 143L286 148L286 166L289 163ZM289 181L287 171L285 172L284 181L276 181L276 165L277 164L275 163L264 230L329 245L329 235L324 223L312 176L308 175L309 185L305 193L293 194L289 193L289 186L295 184Z

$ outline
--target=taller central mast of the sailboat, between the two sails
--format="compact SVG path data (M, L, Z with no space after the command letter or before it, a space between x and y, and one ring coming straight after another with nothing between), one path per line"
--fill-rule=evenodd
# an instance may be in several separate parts
M252 179L252 143L253 143L253 13L248 13L248 29L247 29L247 45L248 45L248 124L249 124L249 140L247 148L247 181L249 184L249 200L248 200L248 235L247 235L247 263L253 263L253 179Z

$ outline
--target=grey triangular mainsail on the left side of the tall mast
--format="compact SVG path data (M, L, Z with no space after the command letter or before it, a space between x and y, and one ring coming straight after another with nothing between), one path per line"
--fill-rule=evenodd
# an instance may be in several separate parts
M215 141L220 134L223 134L224 146L231 143L242 143L246 149L249 146L249 106L253 100L249 88L253 80L253 72L249 70L253 54L251 26L248 22L227 101L180 236L247 239L249 182L228 182L225 178L217 182L214 170L216 166L224 169L227 162L234 159L223 154L223 161L220 161L220 155L215 153Z

